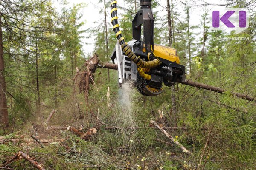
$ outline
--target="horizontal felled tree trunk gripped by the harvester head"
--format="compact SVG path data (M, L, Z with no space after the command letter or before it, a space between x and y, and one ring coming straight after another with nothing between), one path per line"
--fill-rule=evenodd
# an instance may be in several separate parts
M97 65L97 67L98 68L109 68L109 69L117 70L117 65L116 64L108 63L108 62L99 63ZM203 84L203 83L200 83L200 82L193 82L191 80L185 80L185 82L179 82L179 83L184 84L184 85L189 85L189 86L192 86L192 87L196 87L196 88L202 88L202 89L209 90L209 91L215 91L215 92L220 93L220 94L224 94L226 92L226 90L224 90L223 88L214 87L212 85L206 85L206 84ZM248 101L251 101L251 102L256 102L256 98L252 97L252 96L248 96L248 94L245 95L245 94L241 94L241 93L233 93L233 95L237 96L241 99L245 99L245 100L248 100Z

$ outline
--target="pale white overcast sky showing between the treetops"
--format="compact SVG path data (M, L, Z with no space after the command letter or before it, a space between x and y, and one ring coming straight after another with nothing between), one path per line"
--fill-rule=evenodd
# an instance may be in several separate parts
M99 14L99 11L101 10L101 8L103 8L103 3L98 3L99 0L67 0L69 2L69 6L73 7L74 4L78 4L78 3L86 3L86 7L84 8L83 11L83 17L81 19L81 21L85 22L85 25L83 28L81 29L87 29L87 28L91 28L91 27L96 27L97 25L94 24L94 22L97 22L99 20L105 20L104 15L103 14ZM108 2L109 0L106 0L106 2ZM138 0L139 1L139 0ZM183 0L181 0L183 2ZM119 6L125 6L124 0L117 0L118 5ZM166 9L164 9L164 7L166 6L166 0L157 0L157 2L159 3L157 8L154 8L154 11L159 11L158 15L160 17L163 17L164 15L167 14ZM180 3L180 0L173 0L174 4L175 4L175 11L177 11L180 14L180 18L181 20L183 19L183 17L185 16L184 11L183 11L183 5ZM179 2L179 3L177 3ZM189 1L191 3L191 1ZM213 7L216 7L216 5L214 4L221 4L220 0L206 0L207 3L212 3L212 6L207 6L207 9L209 11L212 10ZM223 2L222 2L223 3ZM177 5L179 4L179 5ZM201 6L202 4L204 4L203 0L197 0L195 1L195 3L191 3L192 8L190 9L190 23L192 25L200 25L200 20L201 20L201 15L204 13L204 7ZM57 8L58 11L61 10L61 7L59 5L58 0L54 1L54 5L55 8ZM127 8L127 6L125 6L125 8ZM218 6L218 8L224 8L221 6ZM119 14L122 11L119 12ZM111 20L111 16L110 16L110 7L107 8L107 21L110 23ZM168 26L167 24L165 26ZM122 26L121 26L122 28ZM201 32L202 30L197 29L196 32ZM82 40L83 42L83 50L84 50L84 54L86 55L90 55L93 52L94 49L94 37L90 34L84 34L85 37L90 37L88 38L84 38L84 40ZM86 44L87 43L87 44Z

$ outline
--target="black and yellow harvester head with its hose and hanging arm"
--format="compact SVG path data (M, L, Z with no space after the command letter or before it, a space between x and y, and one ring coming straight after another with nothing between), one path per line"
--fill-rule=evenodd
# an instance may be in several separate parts
M176 49L154 44L151 0L140 0L140 6L132 21L133 39L127 43L119 29L117 1L111 2L111 23L118 39L111 59L118 66L120 85L133 81L141 94L157 96L163 93L162 84L172 86L185 80L185 67L180 65Z

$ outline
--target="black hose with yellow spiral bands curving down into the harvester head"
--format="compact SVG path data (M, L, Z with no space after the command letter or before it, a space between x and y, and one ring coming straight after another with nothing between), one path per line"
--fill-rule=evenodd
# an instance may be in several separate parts
M111 23L113 25L113 31L116 33L116 38L119 42L119 44L122 47L122 50L124 51L125 55L128 56L129 59L131 59L132 62L134 62L138 67L139 74L144 77L145 79L150 80L151 76L148 74L145 74L145 72L142 70L142 68L154 68L161 64L161 62L158 59L154 59L153 61L143 61L139 57L136 56L127 44L125 42L125 38L122 36L122 32L119 29L118 24L118 17L117 17L117 1L111 2Z

